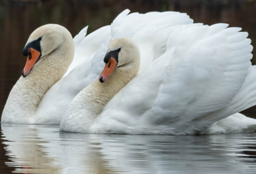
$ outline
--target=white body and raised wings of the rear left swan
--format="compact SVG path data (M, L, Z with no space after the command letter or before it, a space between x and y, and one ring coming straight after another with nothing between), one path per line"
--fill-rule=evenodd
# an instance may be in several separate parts
M113 20L110 26L102 27L85 38L86 27L77 34L74 38L76 45L74 61L70 64L66 75L45 93L36 111L38 117L35 117L35 122L60 124L61 117L72 99L84 87L96 80L102 72L103 59L109 41L119 37L135 36L141 43L140 45L143 45L145 40L141 38L145 37L140 37L141 34L137 33L143 33L146 29L193 23L193 20L186 13L167 11L128 15L129 12L130 10L124 10ZM142 63L152 62L154 57L148 61L145 59ZM147 66L145 64L144 67Z

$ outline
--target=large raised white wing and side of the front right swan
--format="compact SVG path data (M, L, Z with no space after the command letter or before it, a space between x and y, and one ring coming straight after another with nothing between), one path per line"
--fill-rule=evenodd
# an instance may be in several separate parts
M179 25L166 51L105 106L107 133L193 134L228 115L252 64L251 40L227 24ZM230 112L232 114L232 112Z

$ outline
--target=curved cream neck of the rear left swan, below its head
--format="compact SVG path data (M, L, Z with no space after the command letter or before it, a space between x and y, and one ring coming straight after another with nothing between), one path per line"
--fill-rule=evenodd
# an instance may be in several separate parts
M26 117L29 119L35 114L45 92L60 80L73 57L74 43L71 38L40 60L28 76L20 76L4 106L2 121L28 123Z

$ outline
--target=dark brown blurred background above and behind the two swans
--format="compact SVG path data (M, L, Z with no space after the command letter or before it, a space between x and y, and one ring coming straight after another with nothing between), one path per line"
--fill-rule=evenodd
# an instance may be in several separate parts
M88 33L92 33L111 24L126 8L140 13L180 11L188 13L194 22L242 27L249 33L256 55L255 0L0 0L0 115L24 68L24 45L37 27L60 24L74 37L86 25L89 25ZM256 64L256 57L252 63ZM243 113L256 118L256 107Z

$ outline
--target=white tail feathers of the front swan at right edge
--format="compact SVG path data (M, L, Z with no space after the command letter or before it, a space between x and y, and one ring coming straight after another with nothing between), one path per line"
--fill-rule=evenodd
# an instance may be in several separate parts
M256 66L252 66L244 80L243 86L234 99L232 99L230 105L214 114L215 116L222 115L224 119L215 122L202 131L201 134L254 133L256 131L256 119L238 113L256 105L255 75Z

